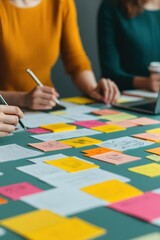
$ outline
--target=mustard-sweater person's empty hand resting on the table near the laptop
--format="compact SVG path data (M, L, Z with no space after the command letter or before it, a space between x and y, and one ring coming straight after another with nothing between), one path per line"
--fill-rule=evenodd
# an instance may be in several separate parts
M120 92L113 81L102 78L98 81L97 87L89 93L89 96L106 104L111 104L118 100Z

